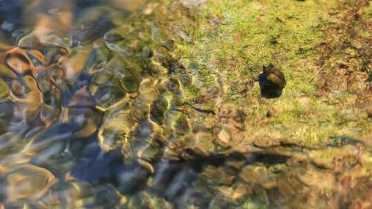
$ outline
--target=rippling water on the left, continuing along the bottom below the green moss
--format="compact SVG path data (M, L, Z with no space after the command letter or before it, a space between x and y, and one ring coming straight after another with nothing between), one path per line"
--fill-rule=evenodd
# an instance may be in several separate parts
M362 170L358 140L336 139L348 164L324 175L301 164L304 148L229 151L234 133L192 124L196 111L238 130L242 115L187 102L192 72L173 52L189 37L172 23L200 1L162 2L0 1L0 208L306 208L364 198L344 184L369 194L368 175L340 175Z

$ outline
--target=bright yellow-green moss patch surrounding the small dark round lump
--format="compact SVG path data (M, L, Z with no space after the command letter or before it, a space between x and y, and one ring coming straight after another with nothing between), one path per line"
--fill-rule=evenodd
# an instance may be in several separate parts
M192 32L194 43L181 44L176 54L184 63L198 63L195 89L219 88L218 74L226 91L223 102L232 102L246 111L255 111L251 121L265 118L268 109L276 113L269 123L252 124L247 132L280 131L295 144L319 146L333 135L365 137L370 133L365 118L349 117L343 109L353 109L353 95L320 98L318 45L324 41L322 25L330 23L329 11L339 1L208 1L199 8L199 22ZM370 8L367 10L369 11ZM365 12L370 15L371 12ZM368 32L362 32L367 36ZM260 89L253 83L262 65L273 63L282 70L287 87L278 99L258 102ZM245 90L244 94L240 94ZM214 101L206 101L212 102ZM353 118L354 117L354 118ZM278 125L280 124L280 125ZM366 130L360 131L360 126ZM359 131L358 131L359 130Z

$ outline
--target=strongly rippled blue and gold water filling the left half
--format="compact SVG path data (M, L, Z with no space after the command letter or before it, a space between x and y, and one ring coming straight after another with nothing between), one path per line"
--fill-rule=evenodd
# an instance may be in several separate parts
M192 198L201 165L163 157L189 129L180 108L190 77L164 29L141 21L143 5L0 1L0 208L172 208Z

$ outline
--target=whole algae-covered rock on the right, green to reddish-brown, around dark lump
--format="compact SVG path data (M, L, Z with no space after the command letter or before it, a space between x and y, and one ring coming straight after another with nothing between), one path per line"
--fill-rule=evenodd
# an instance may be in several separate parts
M365 2L221 0L207 1L201 8L194 8L200 15L198 22L183 29L192 41L181 41L174 52L189 67L195 81L185 89L187 99L198 107L214 109L218 117L229 105L245 115L244 128L238 133L246 137L240 142L229 142L235 146L232 150L249 152L247 144L253 142L262 146L259 152L289 156L276 177L277 181L285 182L274 186L279 194L273 190L242 192L246 194L244 200L234 201L241 208L283 204L289 208L326 208L339 197L329 196L330 200L320 195L305 201L306 195L297 197L296 193L299 190L304 194L318 194L320 190L339 193L337 187L344 177L337 174L338 170L347 169L347 175L358 181L368 178L371 157L367 150L372 126L364 107L371 102L366 83L371 72L371 53L366 47L371 43L371 33L366 27L372 24L371 5ZM344 42L344 36L351 37L351 47ZM282 96L271 100L261 98L257 82L262 65L269 63L276 65L287 80ZM211 123L216 118L199 116L191 121L223 126L221 129L231 135L225 139L233 139L237 131L220 122ZM357 139L364 144L331 146L329 140L334 138ZM358 164L364 168L355 166ZM278 165L267 167L275 166ZM301 171L302 166L311 170ZM301 172L306 174L303 181L315 177L311 181L329 179L329 184L304 187L303 182L295 180L301 178ZM331 177L327 177L327 172L332 173ZM265 187L263 183L256 187L248 185ZM231 186L226 196L241 194L234 188ZM268 201L265 195L261 197L268 193L285 200ZM356 195L352 191L348 194ZM359 198L340 200L340 204L357 202L369 204Z

